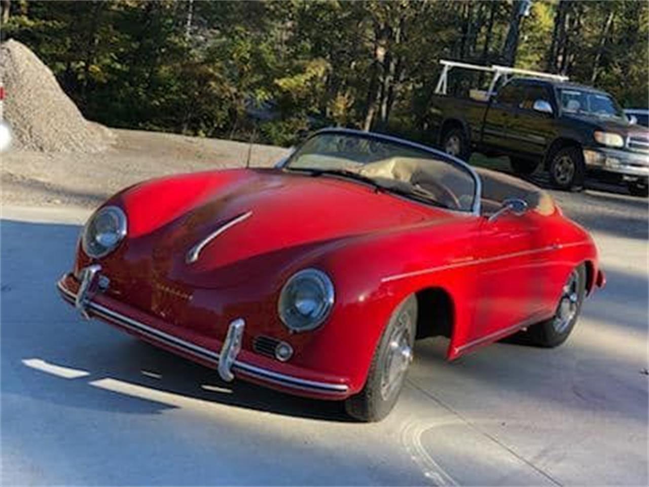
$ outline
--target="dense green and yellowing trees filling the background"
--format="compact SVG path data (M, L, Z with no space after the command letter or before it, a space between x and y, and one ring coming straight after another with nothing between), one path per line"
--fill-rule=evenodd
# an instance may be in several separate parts
M12 0L2 35L31 47L88 118L113 127L291 145L342 125L426 140L439 59L503 62L517 5ZM647 106L648 5L535 0L515 65Z

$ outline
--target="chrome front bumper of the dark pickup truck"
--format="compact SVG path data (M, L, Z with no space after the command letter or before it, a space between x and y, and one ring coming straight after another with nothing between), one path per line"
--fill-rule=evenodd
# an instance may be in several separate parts
M583 149L583 161L587 169L622 175L624 179L647 179L649 177L649 154L587 147Z

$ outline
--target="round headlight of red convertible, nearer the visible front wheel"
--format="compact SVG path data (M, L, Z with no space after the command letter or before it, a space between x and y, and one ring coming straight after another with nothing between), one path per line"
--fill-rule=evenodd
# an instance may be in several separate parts
M334 284L323 271L304 269L293 274L280 293L280 319L291 331L321 325L334 305Z

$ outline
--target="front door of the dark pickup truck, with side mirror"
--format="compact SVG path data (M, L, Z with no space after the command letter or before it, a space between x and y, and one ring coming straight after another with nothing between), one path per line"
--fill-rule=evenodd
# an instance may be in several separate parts
M536 101L546 101L553 113L534 110ZM513 109L513 120L509 136L515 140L513 147L521 155L542 156L546 147L554 140L554 114L557 107L549 86L542 83L529 83L524 87L522 99Z

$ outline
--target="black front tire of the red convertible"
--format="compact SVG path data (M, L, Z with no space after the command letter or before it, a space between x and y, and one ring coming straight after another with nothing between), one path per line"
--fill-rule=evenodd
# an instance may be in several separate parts
M400 336L404 332L406 336ZM403 301L390 317L386 329L383 331L379 340L374 357L367 374L367 381L363 390L356 395L349 397L345 401L345 410L347 414L360 421L380 421L385 418L397 403L399 393L401 392L405 379L408 365L412 360L412 347L415 343L415 333L417 332L417 298L411 295ZM395 334L402 340L398 343L405 345L408 343L410 358L406 360L403 355L402 347L398 347L398 353L393 347ZM395 380L388 381L389 370L386 370L393 362L390 358L398 357L398 360L405 360L401 364L395 362L394 366L402 365L405 369L400 371ZM386 384L387 382L387 384Z

